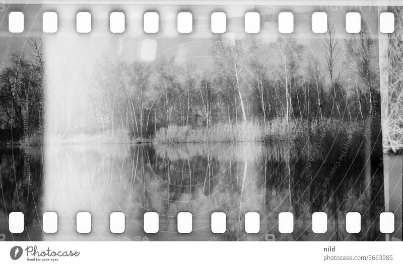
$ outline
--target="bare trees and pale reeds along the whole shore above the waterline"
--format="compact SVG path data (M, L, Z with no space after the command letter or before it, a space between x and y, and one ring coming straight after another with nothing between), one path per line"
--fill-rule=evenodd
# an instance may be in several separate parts
M347 136L356 136L376 145L382 92L374 48L379 44L366 27L356 38L360 42L340 38L331 24L323 43L317 44L320 53L313 57L309 41L304 44L294 37L267 43L258 37L220 35L206 41L210 56L205 61L178 60L174 55L149 64L100 59L86 77L86 87L76 88L80 93L54 91L50 98L45 97L41 41L29 39L28 51L11 55L0 72L0 145L303 145L323 132L330 143L343 144ZM182 53L191 49L183 47ZM395 51L396 58L401 54ZM389 97L396 101L388 105L394 111L388 112L389 120L382 117L387 136L383 152L400 154L403 94L395 92ZM71 103L79 97L81 104L63 106L54 100L68 97ZM55 115L50 110L59 111ZM82 119L76 119L79 116ZM382 151L381 145L376 148Z

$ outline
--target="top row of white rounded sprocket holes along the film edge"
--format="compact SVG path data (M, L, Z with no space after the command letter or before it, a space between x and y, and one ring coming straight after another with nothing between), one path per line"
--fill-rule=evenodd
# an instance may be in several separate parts
M76 14L76 30L78 33L91 32L92 15L90 12L79 12ZM312 32L327 32L327 14L325 12L314 12L311 17ZM258 33L260 31L260 14L258 12L247 12L244 17L245 32ZM294 15L291 12L281 12L278 17L279 32L292 33L294 31ZM9 13L9 31L11 33L24 32L24 13ZM146 12L143 16L145 33L159 32L158 12ZM44 33L57 32L57 13L44 12L42 14L42 30ZM109 30L111 33L124 33L125 15L123 12L112 12L109 15ZM177 14L178 33L191 33L193 30L193 16L191 12L180 12ZM225 33L227 31L227 17L225 12L213 12L211 14L211 32ZM346 14L346 32L359 33L361 31L361 14L359 12L348 12ZM381 33L394 32L394 14L382 12L379 15L379 31Z

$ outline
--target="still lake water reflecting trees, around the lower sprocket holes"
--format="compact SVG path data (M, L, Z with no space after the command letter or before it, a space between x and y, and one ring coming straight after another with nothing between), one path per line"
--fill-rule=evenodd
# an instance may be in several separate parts
M0 234L5 240L385 240L378 219L384 210L382 162L375 164L361 147L345 156L342 149L326 150L287 142L3 148ZM22 234L8 231L12 211L25 215ZM58 213L55 234L42 233L45 211ZM92 214L89 234L76 232L79 211ZM123 234L109 232L113 211L126 215ZM143 231L147 211L160 215L156 234ZM176 232L182 211L193 214L190 234ZM210 228L217 211L228 216L221 235ZM257 234L244 231L249 211L260 214ZM362 216L358 234L345 230L352 211ZM280 212L294 214L293 233L279 233ZM326 233L312 232L313 212L327 213Z

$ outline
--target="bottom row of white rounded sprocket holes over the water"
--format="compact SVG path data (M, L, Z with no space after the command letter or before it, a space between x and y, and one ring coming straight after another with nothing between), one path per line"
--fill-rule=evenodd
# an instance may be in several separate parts
M55 212L43 214L42 226L44 233L56 233L58 216ZM177 232L188 234L192 232L193 216L189 212L180 212L177 215ZM214 234L224 234L227 232L227 216L223 212L211 214L211 232ZM243 218L244 230L248 234L256 234L260 231L260 215L257 212L247 212ZM394 214L383 212L379 215L379 229L381 233L394 232ZM290 212L279 214L278 230L280 233L292 233L294 228L294 215ZM109 219L111 233L121 234L125 231L125 215L122 212L112 212ZM144 214L143 229L145 233L152 234L159 231L159 215L156 212L146 212ZM24 232L24 214L12 212L9 215L9 230L11 233ZM78 233L91 232L91 213L79 212L76 215L76 230ZM312 232L326 233L327 215L323 212L312 214ZM346 231L348 233L359 233L361 231L361 214L350 212L346 214ZM267 239L275 240L273 235L267 235Z

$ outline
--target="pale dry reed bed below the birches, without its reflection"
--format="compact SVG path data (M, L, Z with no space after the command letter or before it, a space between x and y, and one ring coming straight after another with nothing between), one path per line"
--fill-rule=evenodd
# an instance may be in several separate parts
M319 136L322 129L330 135L349 134L361 126L340 121L323 120L309 126L307 121L295 120L287 123L285 119L274 119L266 125L246 122L238 125L217 124L210 128L191 128L188 126L169 126L160 129L156 141L160 143L207 143L207 142L241 142L241 141L306 141Z

